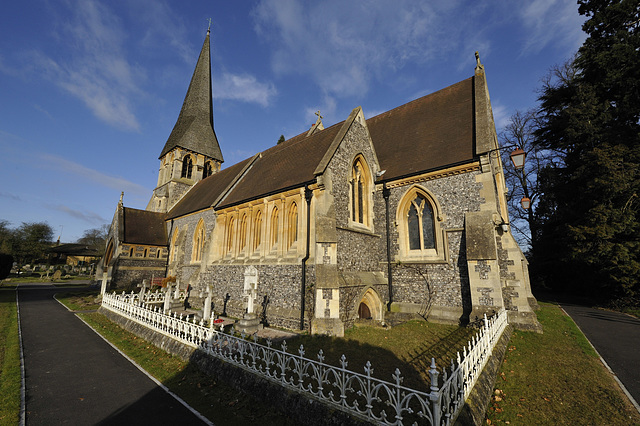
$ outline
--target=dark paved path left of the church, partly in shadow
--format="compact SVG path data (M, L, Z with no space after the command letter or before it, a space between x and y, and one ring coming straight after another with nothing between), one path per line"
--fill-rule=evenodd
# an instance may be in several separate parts
M205 424L53 299L20 285L27 425Z

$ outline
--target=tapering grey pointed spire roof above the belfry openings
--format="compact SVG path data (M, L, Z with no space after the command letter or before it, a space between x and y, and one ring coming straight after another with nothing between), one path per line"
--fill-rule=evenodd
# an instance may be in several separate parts
M180 115L159 158L174 148L181 147L219 162L224 161L213 129L210 25Z

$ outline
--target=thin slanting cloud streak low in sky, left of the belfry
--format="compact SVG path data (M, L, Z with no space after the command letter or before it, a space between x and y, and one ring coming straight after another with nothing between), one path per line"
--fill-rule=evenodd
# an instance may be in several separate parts
M142 185L138 185L137 183L130 182L121 177L106 175L97 170L90 169L57 155L41 154L40 160L41 161L38 162L38 164L40 164L41 167L45 167L58 172L73 174L107 188L116 189L118 191L125 191L127 193L132 193L138 196L147 196L150 192L149 189L145 188Z

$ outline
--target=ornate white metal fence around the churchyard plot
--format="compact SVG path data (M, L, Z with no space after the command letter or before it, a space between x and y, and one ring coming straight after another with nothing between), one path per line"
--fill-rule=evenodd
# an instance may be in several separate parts
M143 297L145 300L147 297ZM286 342L280 349L270 340L260 344L214 329L210 321L191 321L175 313L167 315L161 309L147 306L135 295L105 294L102 306L114 313L170 336L193 348L200 348L253 374L278 383L287 389L313 396L334 408L367 421L383 425L429 424L448 425L462 408L475 385L495 344L507 326L507 313L501 310L491 319L484 318L479 333L472 338L443 369L439 386L438 371L431 360L431 387L423 392L402 386L403 378L396 369L392 382L372 377L373 367L367 362L364 373L347 369L344 355L340 366L324 362L322 351L317 360L305 358L302 346L298 354L287 352Z

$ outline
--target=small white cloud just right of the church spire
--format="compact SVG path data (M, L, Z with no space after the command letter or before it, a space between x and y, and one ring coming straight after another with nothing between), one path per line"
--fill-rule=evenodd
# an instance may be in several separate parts
M266 107L277 93L273 84L261 83L249 74L225 72L213 82L213 95L216 99L232 99Z

